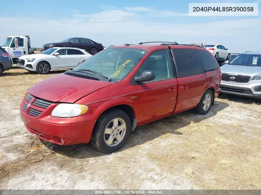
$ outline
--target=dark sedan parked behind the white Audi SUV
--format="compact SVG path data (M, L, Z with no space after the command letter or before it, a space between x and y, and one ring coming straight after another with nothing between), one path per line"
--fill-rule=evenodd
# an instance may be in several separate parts
M91 39L80 37L65 39L60 43L46 43L43 45L44 51L51 47L76 47L79 49L84 49L91 55L103 50L103 45L101 43L96 43Z

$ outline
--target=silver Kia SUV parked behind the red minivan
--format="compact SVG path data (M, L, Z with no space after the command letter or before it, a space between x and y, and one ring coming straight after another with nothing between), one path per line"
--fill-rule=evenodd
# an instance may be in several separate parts
M220 70L221 93L261 99L261 52L239 54Z

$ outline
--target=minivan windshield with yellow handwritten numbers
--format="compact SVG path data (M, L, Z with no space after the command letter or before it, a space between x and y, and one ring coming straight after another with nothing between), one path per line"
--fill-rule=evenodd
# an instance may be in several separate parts
M124 79L146 53L145 49L112 47L93 55L73 71L89 69L111 79Z

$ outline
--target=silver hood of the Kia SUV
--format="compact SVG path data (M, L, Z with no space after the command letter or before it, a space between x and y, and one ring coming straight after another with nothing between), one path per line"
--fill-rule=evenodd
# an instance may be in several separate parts
M222 73L256 76L261 75L261 67L259 66L238 66L225 64L220 67Z

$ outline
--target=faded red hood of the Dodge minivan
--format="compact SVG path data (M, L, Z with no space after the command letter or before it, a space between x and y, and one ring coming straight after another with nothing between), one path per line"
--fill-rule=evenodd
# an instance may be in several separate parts
M83 79L62 73L36 83L27 91L44 100L74 103L83 96L111 84L113 83Z

